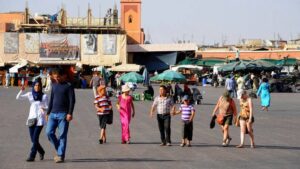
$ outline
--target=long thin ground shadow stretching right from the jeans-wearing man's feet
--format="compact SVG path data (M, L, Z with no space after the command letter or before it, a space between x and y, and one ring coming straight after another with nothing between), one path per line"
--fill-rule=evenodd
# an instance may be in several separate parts
M153 159L153 158L86 158L86 159L72 159L68 160L74 163L85 163L85 162L173 162L177 160L164 160L164 159Z

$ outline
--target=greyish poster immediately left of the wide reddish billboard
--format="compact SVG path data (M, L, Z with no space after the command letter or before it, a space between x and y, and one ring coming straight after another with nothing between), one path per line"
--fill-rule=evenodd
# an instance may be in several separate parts
M25 52L26 53L39 53L40 36L37 33L25 34Z

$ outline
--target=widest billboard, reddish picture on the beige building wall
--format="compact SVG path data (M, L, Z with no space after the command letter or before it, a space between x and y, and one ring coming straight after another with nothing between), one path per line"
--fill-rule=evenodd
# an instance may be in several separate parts
M40 34L40 60L79 60L79 34Z

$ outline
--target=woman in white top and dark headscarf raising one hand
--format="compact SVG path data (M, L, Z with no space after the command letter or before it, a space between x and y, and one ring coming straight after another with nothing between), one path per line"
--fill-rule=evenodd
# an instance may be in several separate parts
M32 142L31 152L26 161L34 161L37 152L40 160L44 159L45 151L39 143L39 136L46 124L46 109L48 108L48 96L42 92L42 83L40 79L33 82L32 91L23 93L24 87L18 93L17 100L29 101L30 109L26 125L29 127L29 134Z

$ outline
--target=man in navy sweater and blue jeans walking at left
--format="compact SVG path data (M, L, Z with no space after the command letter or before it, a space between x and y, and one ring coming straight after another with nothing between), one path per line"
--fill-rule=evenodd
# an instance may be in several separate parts
M69 122L73 118L75 93L71 84L65 80L65 72L53 70L52 77L54 83L52 84L51 98L46 116L48 121L46 134L57 153L54 161L62 163L65 159ZM56 128L58 128L58 138L55 135Z

